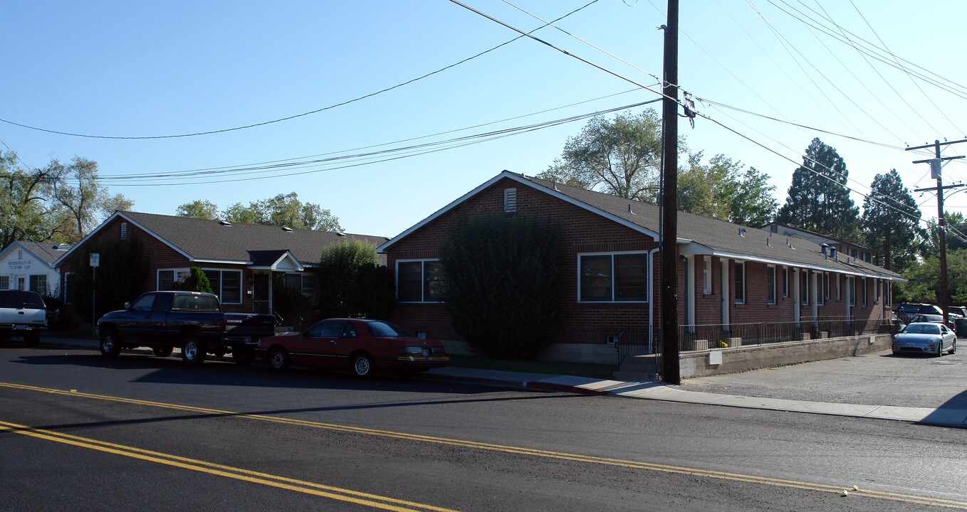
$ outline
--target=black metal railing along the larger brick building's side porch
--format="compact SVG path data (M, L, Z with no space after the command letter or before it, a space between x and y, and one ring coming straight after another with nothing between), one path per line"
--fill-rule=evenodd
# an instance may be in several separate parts
M896 326L883 321L872 327L854 319L829 317L799 322L756 324L712 324L678 327L680 352L708 351L750 345L767 345L784 341L860 336L895 332ZM661 352L661 332L657 326L626 328L616 341L619 364L628 356L645 356Z

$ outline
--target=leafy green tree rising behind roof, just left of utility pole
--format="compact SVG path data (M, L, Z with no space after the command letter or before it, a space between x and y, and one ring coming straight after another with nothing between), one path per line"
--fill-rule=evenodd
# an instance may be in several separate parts
M661 119L648 109L592 118L538 178L655 203L660 162Z

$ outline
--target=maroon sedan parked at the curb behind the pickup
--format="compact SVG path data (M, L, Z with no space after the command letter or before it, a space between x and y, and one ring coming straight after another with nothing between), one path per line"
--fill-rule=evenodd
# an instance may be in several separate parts
M358 377L379 370L405 373L446 366L443 343L418 338L382 320L331 318L295 334L262 338L255 353L276 370L290 364L348 367Z

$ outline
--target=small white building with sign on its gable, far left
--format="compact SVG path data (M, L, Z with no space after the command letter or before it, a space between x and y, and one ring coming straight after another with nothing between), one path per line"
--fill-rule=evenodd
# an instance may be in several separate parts
M70 248L66 243L11 243L0 251L0 290L31 290L61 297L60 271L54 262Z

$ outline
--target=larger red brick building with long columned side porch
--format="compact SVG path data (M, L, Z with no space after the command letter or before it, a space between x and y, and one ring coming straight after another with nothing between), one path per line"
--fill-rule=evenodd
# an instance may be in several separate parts
M458 340L444 306L438 247L465 215L550 217L564 230L570 276L555 358L613 361L609 346L635 327L659 326L659 208L505 171L382 244L396 276L394 319ZM679 324L848 319L875 328L890 317L901 279L815 242L679 213Z

